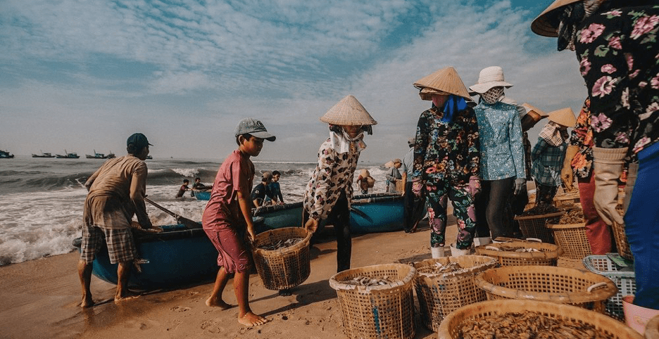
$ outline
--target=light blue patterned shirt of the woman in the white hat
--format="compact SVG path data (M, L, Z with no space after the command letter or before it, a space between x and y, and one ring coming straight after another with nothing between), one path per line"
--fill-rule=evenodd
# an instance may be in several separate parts
M480 136L480 177L499 180L526 178L522 123L516 105L481 101L474 110Z

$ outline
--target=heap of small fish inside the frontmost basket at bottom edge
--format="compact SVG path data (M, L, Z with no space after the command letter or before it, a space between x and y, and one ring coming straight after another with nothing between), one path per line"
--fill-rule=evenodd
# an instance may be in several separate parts
M474 319L460 328L460 339L614 339L591 324L555 319L540 312L508 312Z

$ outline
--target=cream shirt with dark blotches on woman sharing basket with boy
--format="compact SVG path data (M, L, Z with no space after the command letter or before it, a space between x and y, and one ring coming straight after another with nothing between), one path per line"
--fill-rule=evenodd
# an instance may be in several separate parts
M320 220L327 218L332 207L344 191L350 207L353 195L353 175L357 168L359 151L356 148L346 153L337 153L328 138L318 150L318 165L313 171L304 192L303 207L309 217Z

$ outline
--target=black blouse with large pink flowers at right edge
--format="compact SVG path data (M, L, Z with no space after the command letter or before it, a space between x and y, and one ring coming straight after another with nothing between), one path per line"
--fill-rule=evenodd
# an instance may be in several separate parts
M658 31L659 6L612 9L580 25L575 51L591 98L594 146L637 153L657 141Z

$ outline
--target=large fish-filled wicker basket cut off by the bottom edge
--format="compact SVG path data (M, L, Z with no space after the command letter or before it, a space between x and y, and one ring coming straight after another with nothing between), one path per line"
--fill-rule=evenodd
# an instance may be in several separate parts
M620 321L572 305L488 300L460 307L439 326L439 339L644 339Z

